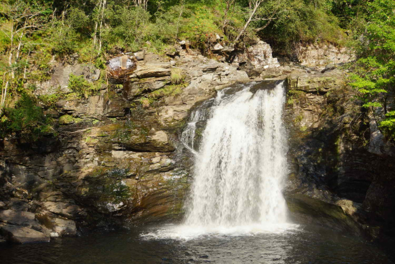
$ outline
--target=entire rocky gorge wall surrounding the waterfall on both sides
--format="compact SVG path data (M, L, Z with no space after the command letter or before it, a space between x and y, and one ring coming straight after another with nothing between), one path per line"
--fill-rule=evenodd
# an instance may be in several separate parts
M280 66L262 42L245 53L222 53L219 61L181 46L164 57L143 51L110 58L109 83L97 95L60 99L46 109L57 122L54 135L34 143L1 141L4 239L49 241L180 220L193 171L193 154L180 143L189 113L216 90L264 79L288 83L284 196L292 217L372 239L391 236L395 151L366 114L357 114L344 69ZM85 66L56 67L52 85L41 85L40 94L70 92L63 81L76 68L96 78ZM182 84L172 83L174 68Z

